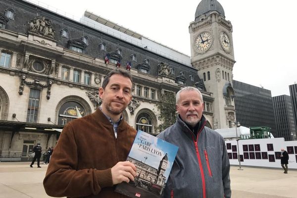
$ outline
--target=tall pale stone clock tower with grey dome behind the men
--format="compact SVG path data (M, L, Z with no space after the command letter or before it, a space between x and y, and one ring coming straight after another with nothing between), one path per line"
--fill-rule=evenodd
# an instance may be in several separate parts
M217 0L201 0L190 23L191 64L212 93L213 129L232 127L236 120L232 70L235 63L232 24Z

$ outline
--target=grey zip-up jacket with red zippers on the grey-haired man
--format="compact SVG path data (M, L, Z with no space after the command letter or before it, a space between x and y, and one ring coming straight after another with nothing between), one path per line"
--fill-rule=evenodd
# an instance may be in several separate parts
M225 141L200 122L197 137L180 116L157 136L179 147L162 198L231 198Z

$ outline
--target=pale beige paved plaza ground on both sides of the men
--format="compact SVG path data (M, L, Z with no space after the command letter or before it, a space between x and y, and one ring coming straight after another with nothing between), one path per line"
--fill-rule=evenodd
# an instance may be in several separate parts
M43 188L47 166L30 162L0 162L0 198L50 198ZM232 166L232 198L297 198L297 171ZM57 184L58 185L58 184Z

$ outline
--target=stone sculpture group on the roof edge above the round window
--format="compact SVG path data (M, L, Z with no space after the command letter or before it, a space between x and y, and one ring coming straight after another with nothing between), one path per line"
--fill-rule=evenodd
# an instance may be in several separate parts
M44 16L40 17L37 16L34 19L28 22L29 24L29 31L34 32L49 38L54 38L55 31L51 25L51 21L46 19Z

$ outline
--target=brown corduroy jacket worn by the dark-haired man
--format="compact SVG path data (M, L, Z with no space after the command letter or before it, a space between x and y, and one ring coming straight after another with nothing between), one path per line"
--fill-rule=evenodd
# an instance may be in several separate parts
M52 197L126 198L115 193L111 167L125 161L136 130L124 120L114 136L113 127L99 108L66 124L44 179Z

